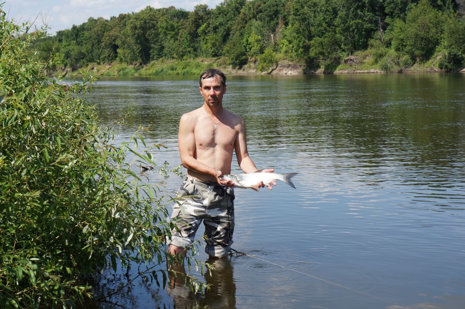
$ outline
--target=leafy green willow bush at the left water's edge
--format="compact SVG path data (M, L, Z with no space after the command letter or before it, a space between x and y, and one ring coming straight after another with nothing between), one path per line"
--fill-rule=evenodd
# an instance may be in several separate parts
M165 284L161 265L180 261L166 257L165 204L176 201L131 170L154 165L159 145L146 145L148 128L115 145L114 131L86 103L98 76L47 78L53 59L41 63L28 52L46 32L8 21L1 5L0 24L0 307L72 306L92 296L86 278L116 271L118 261L141 263L135 276ZM127 162L128 154L136 159Z

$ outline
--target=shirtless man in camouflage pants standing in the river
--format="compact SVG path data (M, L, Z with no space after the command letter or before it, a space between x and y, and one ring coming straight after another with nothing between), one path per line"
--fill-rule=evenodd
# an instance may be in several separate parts
M209 256L225 257L233 243L234 183L220 178L231 172L233 150L242 171L252 173L257 168L247 152L244 120L222 105L225 74L217 69L206 70L200 75L199 88L204 104L182 115L178 136L182 165L187 168L187 178L179 188L178 197L193 196L193 199L185 199L174 207L172 217L177 217L180 232L172 230L168 252L184 254L203 219L205 252ZM265 186L263 182L258 185ZM271 190L272 186L268 188Z

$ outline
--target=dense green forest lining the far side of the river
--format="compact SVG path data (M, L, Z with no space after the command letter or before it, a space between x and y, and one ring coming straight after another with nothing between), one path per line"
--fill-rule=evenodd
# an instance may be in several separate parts
M217 59L224 66L282 59L307 71L340 65L385 72L412 66L464 67L465 0L225 0L192 12L146 7L38 40L39 57L77 69L89 63L146 65Z

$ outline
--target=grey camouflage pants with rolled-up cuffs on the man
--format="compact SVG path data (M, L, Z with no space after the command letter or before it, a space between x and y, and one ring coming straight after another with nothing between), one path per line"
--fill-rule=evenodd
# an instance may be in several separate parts
M172 219L179 231L172 230L169 244L176 247L190 246L202 219L205 225L206 247L209 256L224 257L233 244L234 191L218 183L204 183L186 178L179 187L178 197L193 196L180 200L173 206Z

